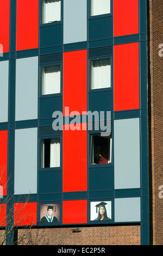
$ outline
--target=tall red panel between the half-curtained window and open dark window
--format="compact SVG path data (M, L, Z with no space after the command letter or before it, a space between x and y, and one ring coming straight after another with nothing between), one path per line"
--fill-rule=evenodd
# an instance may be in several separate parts
M82 126L82 125L81 125ZM87 131L63 131L63 191L87 190Z

